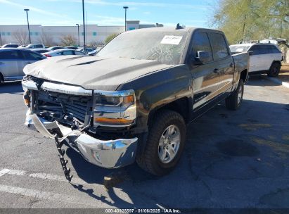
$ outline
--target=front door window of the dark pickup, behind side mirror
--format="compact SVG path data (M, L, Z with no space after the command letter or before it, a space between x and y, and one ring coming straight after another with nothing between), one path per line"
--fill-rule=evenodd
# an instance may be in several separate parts
M193 57L197 57L198 51L207 51L209 53L210 58L204 63L213 61L212 49L206 32L195 32L193 34Z

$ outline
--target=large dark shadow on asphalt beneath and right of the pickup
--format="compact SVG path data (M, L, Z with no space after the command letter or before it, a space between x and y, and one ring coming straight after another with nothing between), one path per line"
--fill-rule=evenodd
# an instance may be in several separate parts
M79 191L117 208L289 208L289 111L285 104L244 100L239 111L220 104L188 126L179 165L155 177L136 163L108 170L87 163L68 149L77 175L108 188ZM278 115L278 117L276 116ZM117 187L132 203L116 194Z

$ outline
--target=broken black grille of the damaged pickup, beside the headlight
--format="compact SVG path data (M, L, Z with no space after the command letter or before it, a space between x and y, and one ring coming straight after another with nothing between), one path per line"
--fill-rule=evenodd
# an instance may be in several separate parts
M92 97L60 94L58 92L35 91L37 112L53 113L55 118L70 115L80 122L86 122L86 116L91 115Z

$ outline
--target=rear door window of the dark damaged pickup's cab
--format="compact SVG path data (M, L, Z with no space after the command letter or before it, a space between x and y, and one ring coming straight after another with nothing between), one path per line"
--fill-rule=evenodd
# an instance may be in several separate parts
M209 39L212 45L212 52L214 60L225 58L229 56L228 47L223 34L210 32Z

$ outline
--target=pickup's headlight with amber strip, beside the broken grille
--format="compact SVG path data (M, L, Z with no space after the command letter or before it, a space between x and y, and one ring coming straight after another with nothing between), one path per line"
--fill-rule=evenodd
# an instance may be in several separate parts
M136 123L134 90L94 91L94 126L127 127Z

